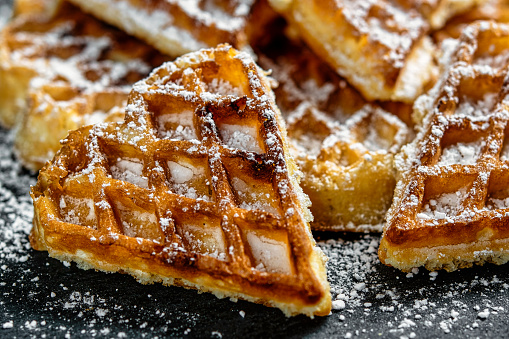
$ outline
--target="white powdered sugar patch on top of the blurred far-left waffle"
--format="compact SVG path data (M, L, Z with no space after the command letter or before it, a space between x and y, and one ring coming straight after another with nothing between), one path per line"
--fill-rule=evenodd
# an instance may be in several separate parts
M150 67L140 59L126 57L125 61L102 60L106 51L115 48L111 38L71 33L77 24L69 20L42 33L13 33L19 40L19 46L12 50L10 59L17 65L36 71L31 86L39 87L58 79L89 93L122 83L129 72L149 72ZM52 57L39 56L41 50L62 49L72 53L66 57L59 57L57 53Z

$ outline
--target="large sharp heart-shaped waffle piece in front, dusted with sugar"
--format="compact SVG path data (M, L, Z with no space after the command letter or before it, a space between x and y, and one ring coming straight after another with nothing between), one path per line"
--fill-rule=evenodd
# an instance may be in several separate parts
M295 171L264 73L229 46L202 50L135 84L124 123L69 135L33 188L31 243L142 283L327 315Z

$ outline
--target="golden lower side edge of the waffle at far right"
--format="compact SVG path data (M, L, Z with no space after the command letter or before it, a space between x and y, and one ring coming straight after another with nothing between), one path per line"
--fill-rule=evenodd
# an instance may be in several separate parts
M434 247L394 246L382 238L379 256L382 263L404 272L424 266L430 271L483 265L486 262L497 265L509 261L509 239L478 241L470 244L444 245Z

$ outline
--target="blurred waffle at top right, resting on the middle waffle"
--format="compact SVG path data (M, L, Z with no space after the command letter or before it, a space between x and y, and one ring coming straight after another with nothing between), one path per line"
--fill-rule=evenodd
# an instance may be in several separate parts
M369 100L413 102L432 74L428 24L387 0L271 0L303 40Z

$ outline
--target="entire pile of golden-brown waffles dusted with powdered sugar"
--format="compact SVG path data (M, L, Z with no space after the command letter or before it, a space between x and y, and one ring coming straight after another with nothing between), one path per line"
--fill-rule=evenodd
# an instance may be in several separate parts
M507 6L18 0L0 123L52 159L32 246L308 316L331 308L311 228L383 230L405 271L504 263L509 29L472 22Z

